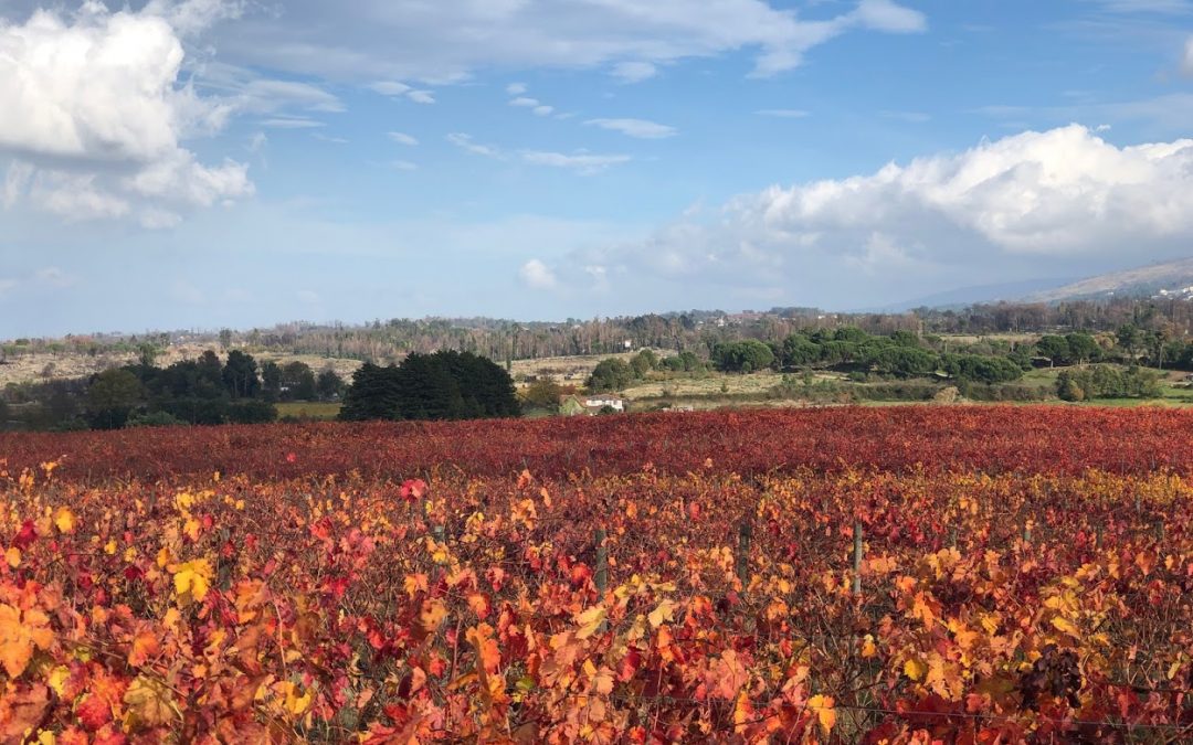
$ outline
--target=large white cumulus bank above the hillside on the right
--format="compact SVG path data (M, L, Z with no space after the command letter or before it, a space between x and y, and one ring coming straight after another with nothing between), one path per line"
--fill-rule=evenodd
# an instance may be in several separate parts
M815 287L861 271L882 277L889 291L901 278L950 268L959 277L1019 260L1138 262L1187 253L1191 242L1193 139L1117 147L1070 125L869 175L744 194L643 241L573 255L565 274L601 266ZM823 277L814 281L812 272Z

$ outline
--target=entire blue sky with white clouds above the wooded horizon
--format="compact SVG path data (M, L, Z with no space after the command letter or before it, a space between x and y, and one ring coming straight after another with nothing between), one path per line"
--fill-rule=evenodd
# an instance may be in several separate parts
M1193 0L0 0L0 337L1193 255Z

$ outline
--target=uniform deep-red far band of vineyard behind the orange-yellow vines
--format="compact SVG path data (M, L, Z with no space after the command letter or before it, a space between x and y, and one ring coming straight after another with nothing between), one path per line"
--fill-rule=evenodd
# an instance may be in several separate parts
M1167 409L1056 406L830 408L596 418L128 429L6 434L11 468L56 460L72 479L173 478L220 471L295 478L359 471L408 478L458 470L561 477L741 474L845 466L902 471L1149 473L1193 467L1193 417Z

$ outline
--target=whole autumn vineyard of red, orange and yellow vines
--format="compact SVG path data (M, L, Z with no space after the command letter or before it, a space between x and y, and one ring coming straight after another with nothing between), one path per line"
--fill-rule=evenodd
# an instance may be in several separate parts
M1193 420L0 436L0 741L1193 740Z

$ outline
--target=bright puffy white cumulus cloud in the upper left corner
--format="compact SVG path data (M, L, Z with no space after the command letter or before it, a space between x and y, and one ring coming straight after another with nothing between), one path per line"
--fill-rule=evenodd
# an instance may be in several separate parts
M0 155L14 163L5 205L160 226L172 222L162 215L251 194L246 166L205 166L180 144L231 112L179 81L180 36L237 12L192 0L112 13L89 1L73 15L0 21Z

